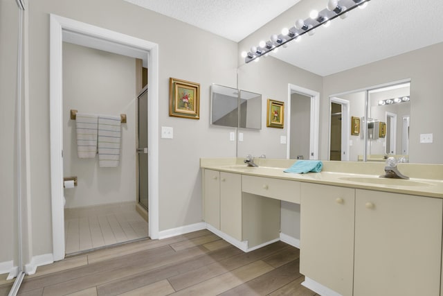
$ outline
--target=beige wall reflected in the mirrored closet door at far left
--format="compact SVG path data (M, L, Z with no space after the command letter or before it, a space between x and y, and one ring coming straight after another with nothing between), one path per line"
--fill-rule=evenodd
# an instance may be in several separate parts
M0 263L11 261L17 249L17 41L19 9L15 1L0 1ZM17 258L17 257L16 257ZM15 262L17 264L17 262ZM4 270L0 270L1 271Z

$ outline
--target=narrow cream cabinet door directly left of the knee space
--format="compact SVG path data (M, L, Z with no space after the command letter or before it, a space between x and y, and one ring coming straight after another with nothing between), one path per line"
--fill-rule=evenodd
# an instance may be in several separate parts
M242 241L242 175L220 173L220 230Z

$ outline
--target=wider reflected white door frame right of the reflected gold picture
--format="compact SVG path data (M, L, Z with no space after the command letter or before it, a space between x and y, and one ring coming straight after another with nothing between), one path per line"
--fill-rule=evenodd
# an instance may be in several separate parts
M318 159L318 137L320 121L320 93L305 87L288 83L288 109L287 109L287 145L286 158L291 155L291 92L309 96L311 98L311 122L309 131L309 159Z

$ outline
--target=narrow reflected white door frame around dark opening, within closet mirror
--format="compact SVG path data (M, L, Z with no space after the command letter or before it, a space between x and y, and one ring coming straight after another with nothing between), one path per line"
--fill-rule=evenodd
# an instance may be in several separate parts
M337 98L336 96L332 96L329 98L329 139L328 139L328 147L327 150L327 159L331 159L331 108L332 103L336 103L341 105L341 152L340 159L342 161L349 161L349 152L350 152L350 103L349 101L343 98ZM344 136L343 136L344 134ZM343 157L343 152L345 152Z

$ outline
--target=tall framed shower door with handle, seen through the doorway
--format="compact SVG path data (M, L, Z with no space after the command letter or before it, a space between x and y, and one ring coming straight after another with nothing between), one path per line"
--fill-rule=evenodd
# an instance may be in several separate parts
M147 87L138 95L138 202L147 209Z

